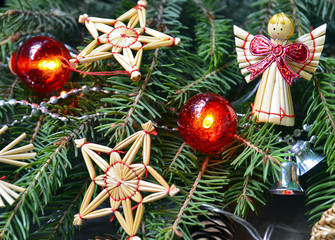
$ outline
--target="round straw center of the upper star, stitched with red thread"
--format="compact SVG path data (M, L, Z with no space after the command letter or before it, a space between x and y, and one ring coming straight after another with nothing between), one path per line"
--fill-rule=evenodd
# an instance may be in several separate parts
M138 33L133 29L125 26L114 28L107 35L108 42L114 47L128 48L138 40Z

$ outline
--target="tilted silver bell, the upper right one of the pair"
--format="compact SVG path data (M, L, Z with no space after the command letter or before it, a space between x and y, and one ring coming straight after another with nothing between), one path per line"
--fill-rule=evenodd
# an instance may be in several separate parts
M325 159L325 156L321 156L313 152L309 148L309 142L298 140L290 149L296 158L298 165L298 176L304 175L306 172L315 167L319 162Z

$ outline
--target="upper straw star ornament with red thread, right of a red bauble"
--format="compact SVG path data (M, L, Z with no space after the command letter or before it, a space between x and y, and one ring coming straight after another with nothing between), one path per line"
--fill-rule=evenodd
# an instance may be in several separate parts
M139 70L144 50L180 45L181 43L179 38L173 38L146 27L146 7L145 0L138 1L136 7L117 19L81 15L79 22L85 22L94 40L76 59L71 59L70 62L76 66L114 57L129 73L132 80L140 80ZM128 20L127 25L123 23L126 20ZM139 27L135 28L138 23ZM99 36L98 31L103 34ZM136 51L135 56L132 51Z

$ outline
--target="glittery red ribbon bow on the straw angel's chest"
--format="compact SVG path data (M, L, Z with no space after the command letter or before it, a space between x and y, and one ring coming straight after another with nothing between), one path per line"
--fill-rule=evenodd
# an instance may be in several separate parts
M305 44L274 45L263 35L256 35L251 40L249 50L255 56L267 55L260 62L247 67L247 70L251 72L251 80L263 73L276 60L280 74L290 86L292 86L293 79L299 78L300 75L289 67L285 57L297 63L304 63L309 57L309 49Z

